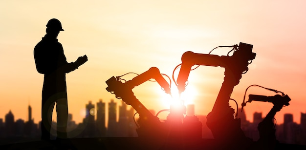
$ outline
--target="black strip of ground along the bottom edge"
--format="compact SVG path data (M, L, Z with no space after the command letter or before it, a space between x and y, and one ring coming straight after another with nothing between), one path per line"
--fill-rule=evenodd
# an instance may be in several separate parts
M175 145L175 146L173 146ZM0 150L220 150L222 144L202 139L191 145L173 143L165 148L138 137L73 138L64 141L31 141L1 145ZM306 145L278 144L276 150L306 150Z

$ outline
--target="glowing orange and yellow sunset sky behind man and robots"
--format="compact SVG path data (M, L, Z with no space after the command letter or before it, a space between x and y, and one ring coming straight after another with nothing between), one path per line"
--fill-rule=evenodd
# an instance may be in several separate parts
M283 123L284 113L293 113L300 123L301 112L306 112L305 6L305 0L1 0L0 118L4 121L11 110L15 120L27 121L30 104L34 122L41 120L44 75L36 71L33 49L44 37L47 21L56 18L65 29L58 39L67 61L88 57L66 75L68 110L77 123L88 101L114 99L121 104L105 90L111 76L157 67L172 78L184 52L208 54L217 46L240 42L252 44L257 56L231 98L241 107L245 89L252 84L282 91L291 101L276 114L277 123ZM229 50L212 54L226 55ZM212 110L223 77L221 67L191 71L182 98L196 105L196 115ZM175 90L172 84L174 94ZM145 82L133 92L148 109L170 108L170 95L156 82ZM275 95L259 87L249 88L247 94ZM236 110L235 103L230 105ZM265 116L272 106L248 103L247 119L252 121L254 112Z

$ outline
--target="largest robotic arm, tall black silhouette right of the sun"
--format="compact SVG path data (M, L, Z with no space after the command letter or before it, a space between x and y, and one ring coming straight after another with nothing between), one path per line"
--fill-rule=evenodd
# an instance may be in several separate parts
M177 77L179 93L185 90L191 67L193 65L220 66L225 68L224 81L212 111L207 115L207 126L212 131L215 139L224 145L235 145L235 142L246 141L243 131L240 129L240 119L234 118L234 110L229 106L230 95L234 87L239 83L241 75L248 71L249 61L255 59L256 53L252 53L253 45L241 43L232 46L235 51L232 56L217 56L209 54L197 54L185 52L182 55L182 64ZM226 126L224 126L226 125Z

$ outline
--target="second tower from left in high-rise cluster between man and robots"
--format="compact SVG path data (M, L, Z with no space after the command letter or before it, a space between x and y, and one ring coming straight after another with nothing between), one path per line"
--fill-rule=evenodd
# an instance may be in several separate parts
M99 137L106 136L105 103L102 102L102 99L100 99L99 102L97 102L96 128Z

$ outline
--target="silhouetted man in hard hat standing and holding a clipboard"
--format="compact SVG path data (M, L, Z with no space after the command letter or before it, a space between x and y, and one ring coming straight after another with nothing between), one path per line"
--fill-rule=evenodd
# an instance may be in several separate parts
M75 62L68 63L63 46L57 36L64 31L58 19L50 19L46 25L46 35L34 48L36 69L44 74L42 93L42 140L50 140L52 112L56 102L57 139L67 137L67 90L66 73L74 71L87 61L81 56Z

